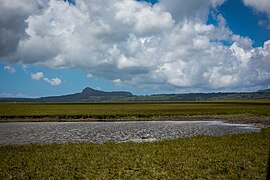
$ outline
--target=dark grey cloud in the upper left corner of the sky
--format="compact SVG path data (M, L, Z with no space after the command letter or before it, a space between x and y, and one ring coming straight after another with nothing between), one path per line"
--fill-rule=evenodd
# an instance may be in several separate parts
M27 37L26 19L47 5L47 0L0 0L0 58L15 52Z

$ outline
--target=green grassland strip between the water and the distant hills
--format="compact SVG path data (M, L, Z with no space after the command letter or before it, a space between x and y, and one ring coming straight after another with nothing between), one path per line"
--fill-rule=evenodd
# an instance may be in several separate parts
M116 119L163 116L270 116L270 101L160 103L0 103L0 119Z

